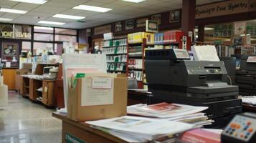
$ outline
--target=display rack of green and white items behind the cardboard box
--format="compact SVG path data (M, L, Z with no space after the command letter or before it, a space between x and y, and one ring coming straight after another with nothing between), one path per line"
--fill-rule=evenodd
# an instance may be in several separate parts
M104 40L103 54L107 55L108 73L126 73L127 37Z

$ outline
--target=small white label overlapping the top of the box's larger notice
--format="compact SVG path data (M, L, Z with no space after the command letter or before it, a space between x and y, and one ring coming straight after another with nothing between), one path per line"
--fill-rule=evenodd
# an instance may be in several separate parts
M92 88L93 89L111 89L112 78L111 77L93 77Z

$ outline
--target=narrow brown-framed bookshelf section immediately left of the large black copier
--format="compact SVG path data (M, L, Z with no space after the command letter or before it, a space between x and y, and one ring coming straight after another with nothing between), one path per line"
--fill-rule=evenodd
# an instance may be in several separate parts
M146 48L146 39L141 43L128 43L127 58L127 77L135 78L138 82L138 89L144 89L143 78L144 72L144 53Z

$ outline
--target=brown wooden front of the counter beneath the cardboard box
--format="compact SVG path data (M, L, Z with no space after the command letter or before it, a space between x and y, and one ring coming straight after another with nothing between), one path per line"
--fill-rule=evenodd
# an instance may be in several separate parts
M125 142L107 132L93 129L84 122L67 119L65 114L53 113L52 116L62 120L62 143L68 143L70 139L79 143Z

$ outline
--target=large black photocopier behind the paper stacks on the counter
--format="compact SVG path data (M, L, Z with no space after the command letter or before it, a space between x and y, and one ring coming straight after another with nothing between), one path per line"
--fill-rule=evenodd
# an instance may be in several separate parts
M227 84L223 61L190 61L182 49L146 50L146 79L151 104L171 102L209 107L205 111L222 128L242 112L238 87Z

